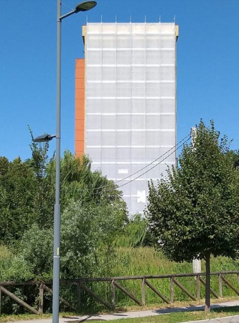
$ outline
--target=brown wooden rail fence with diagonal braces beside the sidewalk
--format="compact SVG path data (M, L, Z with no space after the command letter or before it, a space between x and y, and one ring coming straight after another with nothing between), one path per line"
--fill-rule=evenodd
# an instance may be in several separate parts
M211 276L218 277L218 289L219 294L217 294L213 289L211 289L211 294L220 298L223 297L223 283L226 284L229 288L231 288L237 295L239 295L239 289L233 286L226 278L225 275L237 274L238 282L239 282L239 271L220 271L220 272L212 272ZM63 303L70 310L76 312L80 309L80 294L81 290L85 291L91 297L96 299L99 303L103 304L108 309L114 309L116 306L115 302L115 289L119 289L122 293L124 293L127 297L132 299L136 304L140 306L146 305L146 287L149 287L155 294L159 296L159 298L166 304L174 303L174 286L176 285L179 289L185 293L190 299L193 301L200 300L200 286L206 285L205 280L202 278L206 274L205 273L190 273L190 274L168 274L168 275L146 275L146 276L122 276L122 277L104 277L104 278L81 278L81 279L62 279L62 285L75 284L77 286L77 295L78 295L78 308L76 309L72 304L68 301L60 297L61 303ZM179 281L177 278L179 277L194 277L196 284L196 297L193 296ZM167 299L163 296L158 289L156 289L152 283L149 282L149 279L169 279L170 284L170 299ZM141 281L141 299L137 299L133 293L126 290L119 281L124 280L140 280ZM87 282L110 282L111 284L111 303L107 303L100 296L96 295L91 289L85 286ZM29 304L22 301L19 297L11 293L6 287L9 286L26 286L26 285L35 285L39 286L39 307L38 310L30 306ZM0 282L0 315L1 315L1 294L5 294L10 297L16 303L22 305L27 310L34 314L42 314L43 313L43 305L44 305L44 291L52 294L52 289L49 287L52 286L52 282L44 282L44 281L26 281L22 283L17 283L14 281L3 281Z

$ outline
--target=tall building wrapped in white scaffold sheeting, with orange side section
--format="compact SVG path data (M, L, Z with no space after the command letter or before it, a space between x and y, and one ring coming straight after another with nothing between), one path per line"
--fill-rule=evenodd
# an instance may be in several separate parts
M174 23L87 23L76 61L76 155L87 154L123 191L130 214L148 181L175 165ZM160 158L160 156L162 156Z

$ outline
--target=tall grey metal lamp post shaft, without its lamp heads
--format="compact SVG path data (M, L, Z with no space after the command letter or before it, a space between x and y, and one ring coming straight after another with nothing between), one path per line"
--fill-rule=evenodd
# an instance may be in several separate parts
M54 205L52 322L59 323L60 292L60 156L61 156L61 0L57 0L56 201Z

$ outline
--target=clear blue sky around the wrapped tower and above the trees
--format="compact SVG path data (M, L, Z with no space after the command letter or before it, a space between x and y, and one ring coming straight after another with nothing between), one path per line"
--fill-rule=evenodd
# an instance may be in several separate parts
M62 12L78 1L63 0ZM239 149L239 0L98 0L88 21L179 24L177 138L214 119ZM0 0L0 156L31 156L30 135L55 133L57 0ZM86 13L62 22L62 152L74 153L75 59ZM55 141L50 144L52 153Z

